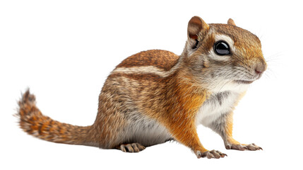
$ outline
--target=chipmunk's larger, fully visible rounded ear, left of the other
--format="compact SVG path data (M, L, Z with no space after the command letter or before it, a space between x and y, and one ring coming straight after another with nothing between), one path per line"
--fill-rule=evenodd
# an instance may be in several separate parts
M208 24L205 23L202 18L198 16L194 16L189 21L189 26L187 27L187 35L189 36L189 38L197 40L198 34L202 30L208 30L208 29L209 29Z

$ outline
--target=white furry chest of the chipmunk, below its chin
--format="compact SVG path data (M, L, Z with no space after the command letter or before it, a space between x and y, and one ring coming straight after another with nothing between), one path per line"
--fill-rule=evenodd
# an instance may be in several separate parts
M208 126L210 123L213 123L221 115L232 111L238 98L239 94L232 91L212 94L199 109L196 124Z

